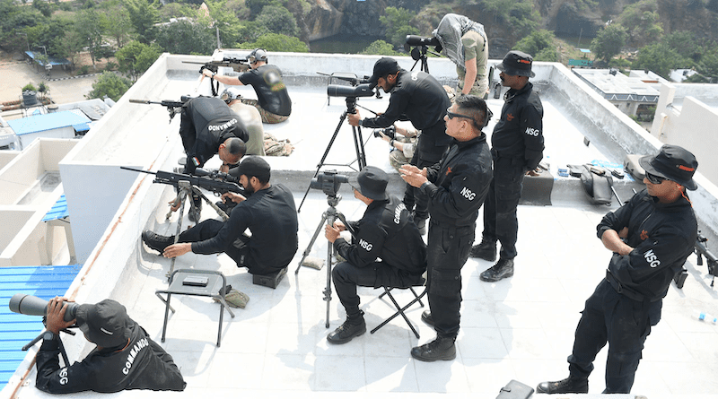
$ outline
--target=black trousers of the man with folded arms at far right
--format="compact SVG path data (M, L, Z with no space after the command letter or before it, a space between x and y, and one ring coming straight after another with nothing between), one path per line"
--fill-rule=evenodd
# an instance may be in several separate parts
M605 279L600 282L586 300L576 327L574 351L568 357L571 376L588 378L596 354L609 343L603 393L630 393L645 339L651 334L651 326L661 319L661 304L661 300L629 299Z

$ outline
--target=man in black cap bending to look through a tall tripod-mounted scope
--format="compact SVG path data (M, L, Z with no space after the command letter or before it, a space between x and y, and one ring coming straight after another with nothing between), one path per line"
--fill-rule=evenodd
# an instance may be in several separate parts
M369 79L372 89L381 87L390 92L389 108L378 117L364 118L357 111L347 115L351 126L389 127L397 120L408 120L416 129L421 130L418 145L411 159L412 165L419 168L432 166L442 159L449 148L451 137L446 135L443 117L451 100L441 83L425 72L409 72L401 69L394 58L383 57L374 64L372 77ZM428 199L421 190L407 185L404 204L409 210L414 208L414 221L425 231L425 221L429 217Z

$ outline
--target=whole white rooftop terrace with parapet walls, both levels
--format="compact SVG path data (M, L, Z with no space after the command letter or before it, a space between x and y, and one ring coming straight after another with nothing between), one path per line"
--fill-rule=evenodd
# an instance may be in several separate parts
M128 313L160 342L164 307L154 295L166 288L165 273L170 260L147 251L140 240L144 229L161 234L176 228L165 221L166 203L173 197L170 187L153 185L152 178L136 175L118 166L168 170L182 155L179 118L168 125L166 110L160 106L130 104L128 99L176 100L193 92L208 93L206 82L198 85L195 65L185 60L195 56L162 56L155 65L118 101L106 117L92 128L60 162L67 205L73 217L74 242L83 269L67 296L93 303L105 298L125 304ZM273 183L292 188L297 205L317 169L329 138L334 133L343 99L328 104L326 77L322 72L372 70L376 57L270 54L280 65L293 99L293 115L283 124L265 125L278 138L289 138L295 151L286 158L267 158L273 168ZM400 59L407 69L410 59ZM492 61L494 64L495 61ZM441 82L454 78L453 65L445 59L429 61L432 74ZM546 159L553 176L565 164L591 160L622 163L626 153L655 152L661 143L613 108L562 65L535 65L532 81L545 107ZM250 88L242 88L254 97ZM360 99L366 108L381 111L383 99ZM499 115L502 100L488 100ZM362 115L368 111L360 109ZM486 129L490 134L492 123ZM390 169L388 146L370 138L364 129L368 164ZM590 141L587 146L584 138ZM355 158L351 130L342 126L328 153L326 163L346 164ZM209 167L217 166L215 163ZM700 160L699 160L700 161ZM353 165L355 167L355 165ZM347 173L350 167L338 167ZM700 188L691 193L704 232L714 240L716 188L698 176ZM631 181L617 182L627 199ZM392 174L391 191L401 191L400 180ZM217 307L210 300L176 297L177 310L168 325L162 344L174 357L188 381L183 394L127 391L112 397L217 395L328 396L453 394L493 398L511 379L530 386L547 379L566 376L566 356L571 351L575 325L585 299L605 273L610 254L596 239L600 217L617 207L588 204L575 178L554 180L550 206L520 205L516 274L508 280L485 283L478 280L490 266L469 259L462 271L464 298L456 360L423 363L411 359L412 346L433 339L433 330L419 317L422 308L407 315L418 328L420 339L401 319L395 319L376 334L364 334L344 345L330 345L326 335L344 321L344 309L336 296L330 302L329 328L325 328L326 302L321 291L326 269L310 268L291 273L308 247L314 230L326 210L324 195L312 191L299 213L300 250L290 273L276 288L251 283L251 276L238 270L232 260L221 256L187 255L178 258L176 268L200 268L223 272L232 287L247 293L247 308L234 309L236 317L224 317L223 341L215 347ZM347 219L363 214L346 185L338 210ZM207 209L203 218L214 217ZM479 215L479 221L481 220ZM187 225L185 219L183 225ZM480 223L479 223L480 225ZM480 235L481 228L477 229ZM311 256L326 256L326 241L318 239ZM325 266L326 267L326 266ZM711 287L704 266L696 256L688 258L689 277L682 290L671 286L664 301L661 324L653 328L638 369L635 395L648 398L718 398L718 326L697 320L698 312L718 315L718 291ZM378 325L391 313L390 304L377 299L379 292L360 289L367 325ZM407 293L398 293L407 301ZM65 337L71 359L83 357L92 346L82 337ZM603 385L606 351L596 360L591 376L591 395L599 396ZM31 354L11 378L2 396L46 397L36 390ZM24 378L24 379L22 379ZM24 381L24 383L23 383ZM612 395L631 397L635 395ZM85 393L83 397L108 397ZM571 395L561 395L570 397ZM586 397L585 395L582 397Z

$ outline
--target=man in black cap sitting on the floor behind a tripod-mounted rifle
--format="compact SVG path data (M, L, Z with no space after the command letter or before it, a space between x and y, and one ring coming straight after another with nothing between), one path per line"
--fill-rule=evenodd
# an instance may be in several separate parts
M297 251L297 211L292 192L284 185L269 183L271 171L267 160L250 157L243 160L232 175L240 179L245 198L224 193L223 200L237 203L229 221L202 221L180 234L161 236L150 230L142 233L147 247L165 257L195 254L226 253L252 274L276 273L289 265ZM244 235L250 229L252 235Z

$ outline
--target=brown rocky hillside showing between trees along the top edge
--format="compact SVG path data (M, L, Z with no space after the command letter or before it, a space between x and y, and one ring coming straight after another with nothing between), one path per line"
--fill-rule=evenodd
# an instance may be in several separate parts
M383 33L379 17L388 6L404 7L416 13L413 21L428 35L448 12L462 13L486 26L498 53L512 46L512 29L503 21L492 20L483 13L483 3L429 0L302 0L311 4L309 13L302 13L300 0L290 7L302 27L302 39L311 41L336 34L377 36ZM593 37L600 27L614 20L627 4L638 0L533 0L541 16L540 26L553 30L557 36ZM645 1L645 0L644 0ZM693 30L698 37L718 38L718 0L653 0L657 4L665 32ZM492 51L493 53L494 51Z

